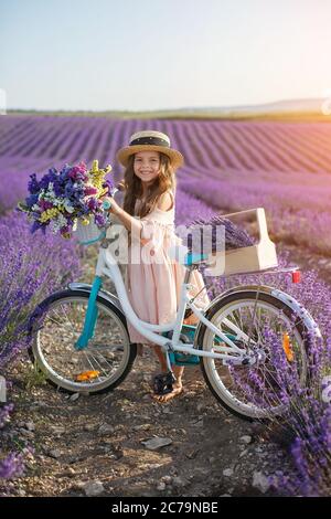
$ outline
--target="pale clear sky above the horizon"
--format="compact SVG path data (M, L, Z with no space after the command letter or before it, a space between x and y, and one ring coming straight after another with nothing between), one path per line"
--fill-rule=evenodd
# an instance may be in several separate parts
M331 0L0 0L7 108L153 110L323 97Z

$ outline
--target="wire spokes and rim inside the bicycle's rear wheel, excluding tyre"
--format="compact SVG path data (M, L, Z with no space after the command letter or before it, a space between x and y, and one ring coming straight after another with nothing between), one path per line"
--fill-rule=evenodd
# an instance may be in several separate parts
M226 307L225 307L226 308ZM289 371L297 370L299 377L302 371L302 341L293 335L290 319L277 306L266 304L255 297L238 303L228 304L228 310L222 309L215 314L212 322L223 332L234 332L242 337L252 351L258 351L259 357L252 366L224 366L215 359L204 359L209 378L214 381L213 386L220 388L224 399L232 402L236 409L245 406L249 415L269 413L282 407L282 379ZM290 337L291 349L299 353L299 363L289 363L284 351L282 340L285 333ZM215 345L215 333L206 331L209 350L222 351L222 346ZM246 339L247 338L247 339ZM243 347L243 342L237 346ZM263 352L263 354L261 354ZM277 371L275 360L284 358L284 370ZM248 411L249 410L249 411Z

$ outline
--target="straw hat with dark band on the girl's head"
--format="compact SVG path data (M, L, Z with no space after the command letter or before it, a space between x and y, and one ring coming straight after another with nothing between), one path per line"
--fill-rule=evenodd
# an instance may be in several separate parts
M121 148L117 152L116 158L126 167L131 155L147 150L160 151L161 153L167 155L174 169L180 168L184 163L184 157L182 153L170 148L170 139L168 135L152 130L138 131L137 134L131 135L129 146Z

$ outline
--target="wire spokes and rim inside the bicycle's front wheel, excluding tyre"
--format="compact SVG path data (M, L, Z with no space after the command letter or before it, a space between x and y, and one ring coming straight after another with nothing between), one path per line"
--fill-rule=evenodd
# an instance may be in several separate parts
M93 338L87 348L77 350L75 345L88 305L87 297L78 299L63 299L47 307L45 326L38 331L39 362L58 385L74 391L110 385L127 366L130 352L127 331L114 313L109 315L107 307L98 305Z

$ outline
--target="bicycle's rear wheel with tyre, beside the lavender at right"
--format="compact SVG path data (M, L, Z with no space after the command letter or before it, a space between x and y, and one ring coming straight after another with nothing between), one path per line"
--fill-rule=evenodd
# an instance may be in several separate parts
M218 402L248 421L285 414L290 392L308 380L308 330L303 322L289 306L255 289L215 300L206 317L224 333L245 333L246 340L234 342L243 350L248 343L260 359L252 366L224 366L222 360L201 358L204 379ZM200 349L221 352L215 338L202 327Z

